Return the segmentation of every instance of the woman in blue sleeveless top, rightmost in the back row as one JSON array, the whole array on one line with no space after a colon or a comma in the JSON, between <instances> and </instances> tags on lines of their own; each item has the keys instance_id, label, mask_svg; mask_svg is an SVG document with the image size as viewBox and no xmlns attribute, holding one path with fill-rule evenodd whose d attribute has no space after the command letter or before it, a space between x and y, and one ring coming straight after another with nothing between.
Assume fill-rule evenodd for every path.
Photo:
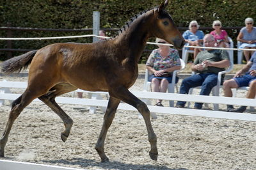
<instances>
[{"instance_id":1,"label":"woman in blue sleeveless top, rightmost in the back row","mask_svg":"<svg viewBox=\"0 0 256 170\"><path fill-rule=\"evenodd\" d=\"M239 49L256 49L256 27L253 27L253 19L246 18L244 20L245 27L243 27L239 35L237 36L237 41L242 44L239 46ZM244 58L246 62L250 60L254 51L244 50Z\"/></svg>"}]
</instances>

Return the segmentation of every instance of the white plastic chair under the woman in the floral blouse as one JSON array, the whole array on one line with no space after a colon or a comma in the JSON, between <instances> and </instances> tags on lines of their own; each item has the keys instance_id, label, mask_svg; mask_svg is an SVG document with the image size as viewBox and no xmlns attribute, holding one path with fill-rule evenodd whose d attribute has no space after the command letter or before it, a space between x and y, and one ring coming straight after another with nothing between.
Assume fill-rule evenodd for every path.
<instances>
[{"instance_id":1,"label":"white plastic chair under the woman in the floral blouse","mask_svg":"<svg viewBox=\"0 0 256 170\"><path fill-rule=\"evenodd\" d=\"M181 66L180 70L183 70L185 68L185 63L184 63L184 61L182 59L180 59L180 66ZM168 88L167 88L168 89L168 93L174 93L175 86L176 86L176 91L178 93L179 89L177 87L177 84L175 84L175 79L176 79L177 73L180 72L180 70L173 71L172 83L169 83L168 84ZM149 81L149 72L146 69L143 91L151 91L151 84L152 84L152 82ZM170 105L170 107L173 107L174 102L173 101L169 101L169 105Z\"/></svg>"}]
</instances>

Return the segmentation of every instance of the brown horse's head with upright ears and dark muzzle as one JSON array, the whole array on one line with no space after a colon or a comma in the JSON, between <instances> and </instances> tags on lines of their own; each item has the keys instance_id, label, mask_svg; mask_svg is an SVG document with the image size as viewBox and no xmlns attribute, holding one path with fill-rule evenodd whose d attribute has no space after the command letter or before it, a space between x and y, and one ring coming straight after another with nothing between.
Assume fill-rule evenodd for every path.
<instances>
[{"instance_id":1,"label":"brown horse's head with upright ears and dark muzzle","mask_svg":"<svg viewBox=\"0 0 256 170\"><path fill-rule=\"evenodd\" d=\"M164 11L168 2L168 0L165 0L158 8L153 10L156 22L154 23L154 29L151 29L152 35L172 43L177 49L182 49L185 40L175 26L172 17Z\"/></svg>"}]
</instances>

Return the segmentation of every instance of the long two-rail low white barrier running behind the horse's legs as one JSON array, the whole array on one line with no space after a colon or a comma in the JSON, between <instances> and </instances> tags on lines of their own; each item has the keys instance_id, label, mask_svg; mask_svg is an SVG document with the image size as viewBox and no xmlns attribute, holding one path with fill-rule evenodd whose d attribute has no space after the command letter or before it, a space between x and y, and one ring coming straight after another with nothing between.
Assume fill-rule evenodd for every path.
<instances>
[{"instance_id":1,"label":"long two-rail low white barrier running behind the horse's legs","mask_svg":"<svg viewBox=\"0 0 256 170\"><path fill-rule=\"evenodd\" d=\"M4 84L12 84L12 88L24 88L26 82L0 82L0 87ZM18 86L18 87L17 87ZM82 91L81 89L79 91ZM84 93L103 93L106 92L91 92L82 91ZM177 93L156 93L148 91L131 91L136 97L142 100L150 99L162 99L162 100L181 100L187 102L202 102L210 104L243 104L247 106L256 107L256 100L249 98L227 98L227 97L212 97L212 96L200 96L200 95L182 95ZM0 100L15 100L20 94L12 93L0 93ZM40 102L40 100L35 99L35 102ZM99 106L107 107L108 100L99 99L87 99L87 98L72 98L72 97L56 97L56 102L60 104L79 104L79 105L89 105L89 106ZM147 102L146 102L147 103ZM134 107L128 104L120 104L118 109L136 111ZM163 114L179 114L187 116L204 116L209 118L225 118L233 120L245 120L245 121L256 121L256 114L246 114L237 112L223 112L223 111L211 111L211 110L198 110L198 109L180 109L175 107L158 107L148 105L150 112L163 113Z\"/></svg>"}]
</instances>

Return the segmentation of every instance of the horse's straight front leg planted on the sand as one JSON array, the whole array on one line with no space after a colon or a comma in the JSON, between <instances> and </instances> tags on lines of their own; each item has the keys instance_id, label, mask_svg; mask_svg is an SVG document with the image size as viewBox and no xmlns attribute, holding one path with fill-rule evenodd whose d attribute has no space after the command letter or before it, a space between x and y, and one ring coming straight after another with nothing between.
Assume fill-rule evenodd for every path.
<instances>
[{"instance_id":1,"label":"horse's straight front leg planted on the sand","mask_svg":"<svg viewBox=\"0 0 256 170\"><path fill-rule=\"evenodd\" d=\"M108 157L104 153L104 142L105 142L105 139L106 139L108 128L110 127L113 119L115 118L116 109L117 109L119 104L120 104L119 99L114 98L114 97L109 98L108 108L107 108L107 111L104 115L104 122L103 122L103 125L102 125L102 129L100 131L99 139L98 139L97 144L95 146L95 149L97 150L97 152L100 155L101 162L108 162L109 161Z\"/></svg>"}]
</instances>

